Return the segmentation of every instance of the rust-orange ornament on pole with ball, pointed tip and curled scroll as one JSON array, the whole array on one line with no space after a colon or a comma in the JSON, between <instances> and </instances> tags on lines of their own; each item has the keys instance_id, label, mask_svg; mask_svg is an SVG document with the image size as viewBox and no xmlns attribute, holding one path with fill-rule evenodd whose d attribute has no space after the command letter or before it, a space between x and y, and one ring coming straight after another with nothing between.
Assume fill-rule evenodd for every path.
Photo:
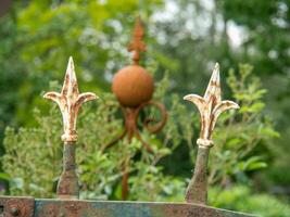
<instances>
[{"instance_id":1,"label":"rust-orange ornament on pole with ball, pointed tip and curled scroll","mask_svg":"<svg viewBox=\"0 0 290 217\"><path fill-rule=\"evenodd\" d=\"M140 17L137 17L134 30L133 42L128 46L128 51L133 52L133 65L126 66L118 71L112 84L112 90L115 93L119 106L125 118L125 126L123 132L118 138L110 142L106 148L116 144L119 140L127 136L128 143L133 138L138 139L143 148L153 153L152 148L142 139L138 129L138 117L140 112L147 106L155 106L160 114L161 120L157 122L152 118L147 118L143 122L143 127L151 133L160 131L167 119L167 112L162 103L155 102L152 99L154 92L154 80L152 76L139 65L140 52L146 51L146 43L142 41L144 30ZM152 125L152 123L154 123ZM128 195L128 176L129 176L128 156L123 166L122 178L122 199L126 200Z\"/></svg>"}]
</instances>

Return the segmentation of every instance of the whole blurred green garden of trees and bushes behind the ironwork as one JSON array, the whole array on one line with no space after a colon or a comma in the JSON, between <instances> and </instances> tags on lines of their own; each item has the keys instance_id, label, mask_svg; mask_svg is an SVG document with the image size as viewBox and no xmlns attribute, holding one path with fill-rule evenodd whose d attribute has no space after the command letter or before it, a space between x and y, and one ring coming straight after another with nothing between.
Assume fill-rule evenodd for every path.
<instances>
[{"instance_id":1,"label":"whole blurred green garden of trees and bushes behind the ironwork","mask_svg":"<svg viewBox=\"0 0 290 217\"><path fill-rule=\"evenodd\" d=\"M198 110L182 97L202 95L218 62L223 98L241 110L216 127L210 205L290 216L289 8L289 0L1 0L2 193L54 196L61 116L42 95L60 89L72 55L80 90L100 97L78 123L81 197L119 200L122 162L130 156L129 200L182 201L199 133ZM104 149L122 129L111 82L130 64L126 47L138 15L148 47L142 65L169 115L159 135L142 130L154 154L138 140Z\"/></svg>"}]
</instances>

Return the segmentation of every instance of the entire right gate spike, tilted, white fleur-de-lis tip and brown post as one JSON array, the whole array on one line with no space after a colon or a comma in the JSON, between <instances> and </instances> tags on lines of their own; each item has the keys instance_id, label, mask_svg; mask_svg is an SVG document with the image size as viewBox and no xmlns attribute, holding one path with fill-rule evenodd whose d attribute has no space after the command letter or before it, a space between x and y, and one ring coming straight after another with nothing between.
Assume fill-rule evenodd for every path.
<instances>
[{"instance_id":1,"label":"entire right gate spike, tilted, white fleur-de-lis tip and brown post","mask_svg":"<svg viewBox=\"0 0 290 217\"><path fill-rule=\"evenodd\" d=\"M227 110L239 108L239 105L232 101L223 101L220 94L219 66L216 63L204 97L188 94L184 98L198 106L201 116L200 138L197 141L199 145L198 157L193 178L186 193L186 200L189 203L206 203L207 161L210 148L214 145L212 135L217 117Z\"/></svg>"}]
</instances>

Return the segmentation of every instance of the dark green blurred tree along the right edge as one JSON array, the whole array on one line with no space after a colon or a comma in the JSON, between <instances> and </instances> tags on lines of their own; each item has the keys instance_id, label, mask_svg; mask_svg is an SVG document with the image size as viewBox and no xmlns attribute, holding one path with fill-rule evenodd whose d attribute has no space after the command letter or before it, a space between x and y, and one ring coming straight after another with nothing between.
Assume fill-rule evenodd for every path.
<instances>
[{"instance_id":1,"label":"dark green blurred tree along the right edge","mask_svg":"<svg viewBox=\"0 0 290 217\"><path fill-rule=\"evenodd\" d=\"M281 139L277 142L275 166L268 170L270 178L286 184L290 181L290 1L218 1L224 18L235 22L243 30L243 39L237 60L255 65L256 74L262 77L267 93L267 113L275 118ZM283 178L281 178L283 177ZM273 184L273 183L272 183Z\"/></svg>"}]
</instances>

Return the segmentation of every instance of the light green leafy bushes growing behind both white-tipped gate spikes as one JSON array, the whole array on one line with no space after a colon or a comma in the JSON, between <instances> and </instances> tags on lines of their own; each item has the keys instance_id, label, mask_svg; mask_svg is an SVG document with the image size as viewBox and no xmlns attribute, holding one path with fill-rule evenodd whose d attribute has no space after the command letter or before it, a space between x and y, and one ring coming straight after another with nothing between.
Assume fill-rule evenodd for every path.
<instances>
[{"instance_id":1,"label":"light green leafy bushes growing behind both white-tipped gate spikes","mask_svg":"<svg viewBox=\"0 0 290 217\"><path fill-rule=\"evenodd\" d=\"M239 76L230 73L228 78L241 110L236 116L235 113L224 114L218 122L214 135L216 145L211 152L210 183L225 187L243 181L248 171L264 168L264 150L255 153L255 148L261 146L259 144L262 142L269 143L272 137L278 136L262 113L264 104L261 99L265 90L260 88L259 79L251 78L251 69L248 65L241 65ZM130 157L129 200L182 201L185 178L165 175L159 163L165 156L169 157L177 146L186 144L190 148L186 158L194 163L196 144L192 140L197 138L193 132L199 128L199 115L188 112L180 97L166 95L169 88L167 76L156 87L154 98L166 101L168 122L159 137L146 130L141 132L154 154L143 150L138 140L131 143L124 140L105 149L105 144L117 136L123 126L117 102L112 94L103 94L99 102L83 108L76 150L81 197L119 199L122 166ZM154 110L147 112L151 117L157 117ZM3 168L11 177L11 194L51 197L54 196L61 171L61 116L53 105L47 115L36 111L35 118L38 127L17 131L7 129ZM180 164L184 162L177 162L175 166L178 168Z\"/></svg>"}]
</instances>

